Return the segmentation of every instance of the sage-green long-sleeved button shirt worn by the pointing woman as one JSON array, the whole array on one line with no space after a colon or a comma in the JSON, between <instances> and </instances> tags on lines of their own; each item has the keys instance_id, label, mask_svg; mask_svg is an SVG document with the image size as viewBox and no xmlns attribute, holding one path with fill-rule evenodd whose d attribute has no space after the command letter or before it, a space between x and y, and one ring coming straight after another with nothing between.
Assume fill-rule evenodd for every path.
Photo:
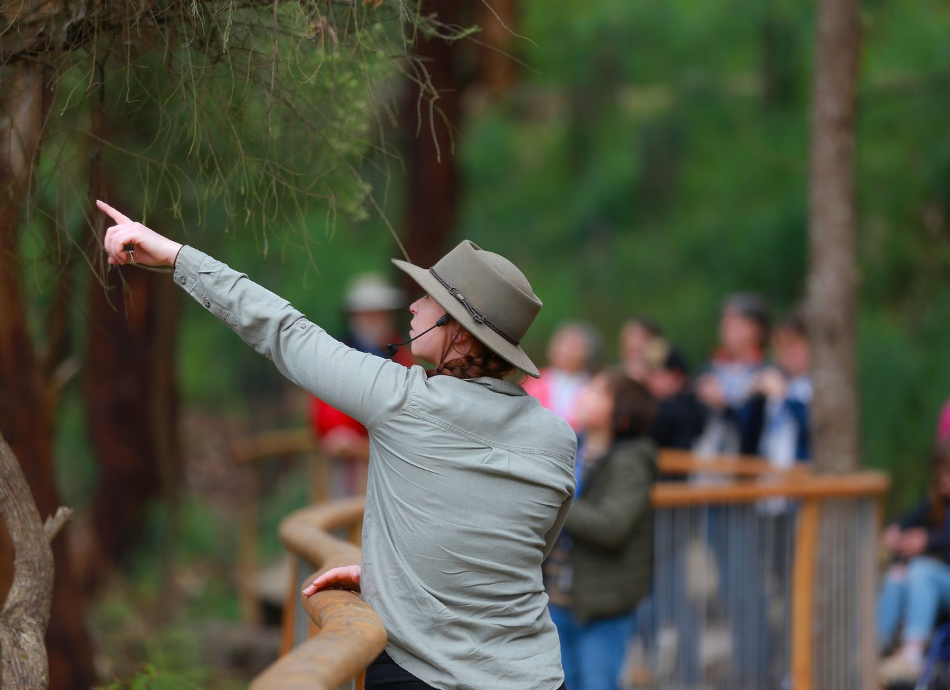
<instances>
[{"instance_id":1,"label":"sage-green long-sleeved button shirt worn by the pointing woman","mask_svg":"<svg viewBox=\"0 0 950 690\"><path fill-rule=\"evenodd\" d=\"M334 340L193 248L175 281L297 385L370 431L362 590L392 659L442 690L563 681L541 564L574 494L564 420L494 379L428 379Z\"/></svg>"}]
</instances>

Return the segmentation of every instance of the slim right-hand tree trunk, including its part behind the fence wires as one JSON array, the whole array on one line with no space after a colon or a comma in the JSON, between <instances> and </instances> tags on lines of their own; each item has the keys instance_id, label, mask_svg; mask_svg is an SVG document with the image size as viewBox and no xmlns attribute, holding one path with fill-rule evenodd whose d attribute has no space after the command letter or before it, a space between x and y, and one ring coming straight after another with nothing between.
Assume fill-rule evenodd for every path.
<instances>
[{"instance_id":1,"label":"slim right-hand tree trunk, including its part behind the fence wires","mask_svg":"<svg viewBox=\"0 0 950 690\"><path fill-rule=\"evenodd\" d=\"M841 473L858 468L857 382L855 375L854 117L861 35L857 0L821 0L817 18L817 55L812 95L811 177L808 273L808 333L812 346L812 450L816 471ZM818 534L811 643L815 690L838 690L845 664L864 671L862 687L874 687L874 657L850 650L847 660L826 650L849 638L855 627L872 625L859 614L841 615L837 603L851 593L853 582L834 577L848 572L851 551L836 535L836 510L823 507ZM853 508L851 510L854 510ZM873 610L873 601L864 602ZM830 646L829 646L830 645ZM810 685L809 685L810 686Z\"/></svg>"}]
</instances>

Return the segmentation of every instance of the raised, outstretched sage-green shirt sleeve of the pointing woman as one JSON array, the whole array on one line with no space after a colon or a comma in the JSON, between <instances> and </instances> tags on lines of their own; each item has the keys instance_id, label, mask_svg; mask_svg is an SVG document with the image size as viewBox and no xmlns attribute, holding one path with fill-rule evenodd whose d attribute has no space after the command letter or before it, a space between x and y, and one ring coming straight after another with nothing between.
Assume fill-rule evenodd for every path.
<instances>
[{"instance_id":1,"label":"raised, outstretched sage-green shirt sleeve of the pointing woman","mask_svg":"<svg viewBox=\"0 0 950 690\"><path fill-rule=\"evenodd\" d=\"M408 369L340 343L246 274L184 247L174 278L290 381L365 426L409 403L420 367Z\"/></svg>"}]
</instances>

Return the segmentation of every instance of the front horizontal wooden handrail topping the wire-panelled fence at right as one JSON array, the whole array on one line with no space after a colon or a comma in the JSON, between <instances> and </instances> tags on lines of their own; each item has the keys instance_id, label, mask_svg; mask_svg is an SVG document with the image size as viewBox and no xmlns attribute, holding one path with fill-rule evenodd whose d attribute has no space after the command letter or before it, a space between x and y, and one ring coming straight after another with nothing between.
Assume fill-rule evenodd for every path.
<instances>
[{"instance_id":1,"label":"front horizontal wooden handrail topping the wire-panelled fence at right","mask_svg":"<svg viewBox=\"0 0 950 690\"><path fill-rule=\"evenodd\" d=\"M882 472L861 472L847 475L792 475L775 477L761 483L690 484L660 482L652 494L656 508L700 506L718 503L751 503L762 498L854 498L881 496L890 486Z\"/></svg>"}]
</instances>

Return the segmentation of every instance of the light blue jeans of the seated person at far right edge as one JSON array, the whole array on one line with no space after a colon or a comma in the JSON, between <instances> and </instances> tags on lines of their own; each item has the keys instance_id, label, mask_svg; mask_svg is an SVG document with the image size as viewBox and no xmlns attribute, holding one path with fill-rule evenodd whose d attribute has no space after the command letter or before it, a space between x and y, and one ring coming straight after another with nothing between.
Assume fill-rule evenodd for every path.
<instances>
[{"instance_id":1,"label":"light blue jeans of the seated person at far right edge","mask_svg":"<svg viewBox=\"0 0 950 690\"><path fill-rule=\"evenodd\" d=\"M890 643L903 619L902 641L926 642L937 614L950 609L950 564L919 556L891 567L878 595L878 644Z\"/></svg>"}]
</instances>

